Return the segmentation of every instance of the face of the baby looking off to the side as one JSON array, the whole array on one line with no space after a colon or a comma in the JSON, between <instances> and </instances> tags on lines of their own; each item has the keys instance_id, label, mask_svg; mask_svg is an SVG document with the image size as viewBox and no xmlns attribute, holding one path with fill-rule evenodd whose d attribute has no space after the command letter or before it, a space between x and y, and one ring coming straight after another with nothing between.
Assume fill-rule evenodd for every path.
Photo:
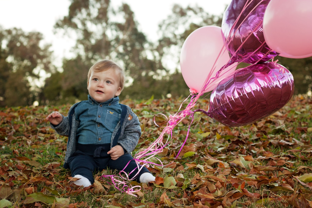
<instances>
[{"instance_id":1,"label":"face of the baby looking off to the side","mask_svg":"<svg viewBox=\"0 0 312 208\"><path fill-rule=\"evenodd\" d=\"M112 69L100 72L91 71L88 90L90 96L99 103L119 96L121 92L119 76Z\"/></svg>"}]
</instances>

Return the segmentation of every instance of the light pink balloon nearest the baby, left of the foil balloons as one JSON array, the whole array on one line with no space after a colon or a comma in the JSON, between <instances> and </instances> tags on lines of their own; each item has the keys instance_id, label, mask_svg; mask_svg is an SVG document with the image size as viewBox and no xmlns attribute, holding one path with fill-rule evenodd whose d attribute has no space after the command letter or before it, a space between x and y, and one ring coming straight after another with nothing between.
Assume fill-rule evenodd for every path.
<instances>
[{"instance_id":1,"label":"light pink balloon nearest the baby, left of the foil balloons","mask_svg":"<svg viewBox=\"0 0 312 208\"><path fill-rule=\"evenodd\" d=\"M180 66L183 79L192 91L212 91L223 78L234 73L237 63L223 69L217 79L212 79L229 60L221 27L200 27L186 38L181 49ZM206 83L207 86L203 88Z\"/></svg>"}]
</instances>

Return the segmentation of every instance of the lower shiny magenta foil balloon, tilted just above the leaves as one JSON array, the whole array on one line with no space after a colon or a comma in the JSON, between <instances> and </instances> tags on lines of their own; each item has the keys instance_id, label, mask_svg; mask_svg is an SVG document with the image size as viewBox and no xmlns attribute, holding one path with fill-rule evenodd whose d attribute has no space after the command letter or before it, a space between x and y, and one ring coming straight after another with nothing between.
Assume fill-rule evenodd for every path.
<instances>
[{"instance_id":1,"label":"lower shiny magenta foil balloon, tilted just above the leaves","mask_svg":"<svg viewBox=\"0 0 312 208\"><path fill-rule=\"evenodd\" d=\"M282 108L294 94L294 78L279 64L250 65L222 80L212 91L208 112L226 126L243 126Z\"/></svg>"}]
</instances>

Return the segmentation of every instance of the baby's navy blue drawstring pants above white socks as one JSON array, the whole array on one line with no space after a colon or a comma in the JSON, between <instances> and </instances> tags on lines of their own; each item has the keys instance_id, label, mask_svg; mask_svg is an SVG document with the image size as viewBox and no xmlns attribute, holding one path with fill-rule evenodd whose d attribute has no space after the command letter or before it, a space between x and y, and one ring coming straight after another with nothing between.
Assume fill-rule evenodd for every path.
<instances>
[{"instance_id":1,"label":"baby's navy blue drawstring pants above white socks","mask_svg":"<svg viewBox=\"0 0 312 208\"><path fill-rule=\"evenodd\" d=\"M81 175L89 179L91 184L93 184L93 172L102 171L106 168L116 169L118 171L124 170L127 174L135 169L129 175L129 179L138 173L138 166L129 153L120 156L117 160L112 160L110 155L107 154L109 150L110 144L105 144L100 147L98 145L78 144L77 151L68 159L71 176ZM126 165L127 167L124 168ZM143 167L135 178L135 181L140 182L140 176L144 172L149 172L149 170Z\"/></svg>"}]
</instances>

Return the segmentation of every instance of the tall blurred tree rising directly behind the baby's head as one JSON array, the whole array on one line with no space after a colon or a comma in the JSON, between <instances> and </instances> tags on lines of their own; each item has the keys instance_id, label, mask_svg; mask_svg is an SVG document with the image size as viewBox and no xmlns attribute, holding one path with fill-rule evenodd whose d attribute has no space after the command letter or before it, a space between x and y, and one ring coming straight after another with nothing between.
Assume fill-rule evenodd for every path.
<instances>
[{"instance_id":1,"label":"tall blurred tree rising directly behind the baby's head","mask_svg":"<svg viewBox=\"0 0 312 208\"><path fill-rule=\"evenodd\" d=\"M146 49L150 43L145 35L137 28L134 13L129 5L122 4L115 10L110 0L72 0L68 16L57 21L56 31L76 38L74 51L76 57L64 60L64 77L71 76L75 82L68 84L64 78L64 90L71 90L76 97L80 97L80 87L85 86L86 80L79 76L86 75L90 66L100 59L112 59L124 67L131 85L134 80L136 86L148 87L149 71L156 71L161 65L147 58ZM73 62L80 63L80 65ZM85 92L83 92L85 94Z\"/></svg>"}]
</instances>

